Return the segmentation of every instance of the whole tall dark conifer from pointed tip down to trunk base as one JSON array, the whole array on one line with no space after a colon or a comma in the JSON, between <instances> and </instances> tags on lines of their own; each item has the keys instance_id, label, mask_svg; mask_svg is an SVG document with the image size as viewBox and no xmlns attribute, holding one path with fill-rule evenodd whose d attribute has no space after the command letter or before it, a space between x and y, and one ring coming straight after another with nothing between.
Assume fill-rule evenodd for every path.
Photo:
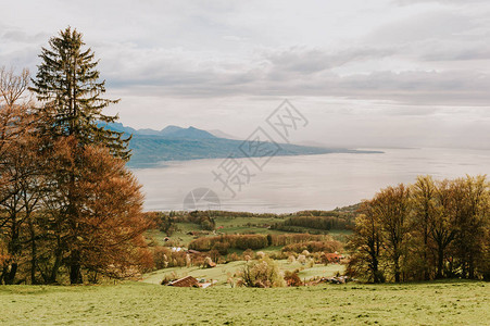
<instances>
[{"instance_id":1,"label":"whole tall dark conifer from pointed tip down to trunk base","mask_svg":"<svg viewBox=\"0 0 490 326\"><path fill-rule=\"evenodd\" d=\"M118 100L101 97L105 92L105 80L99 80L98 61L91 49L84 49L81 34L68 27L58 37L52 37L49 46L49 49L42 48L39 55L42 62L30 90L43 104L39 116L45 121L41 134L50 139L47 149L54 150L56 143L68 139L64 143L71 146L67 153L72 155L65 160L66 166L52 170L56 179L52 191L63 200L52 222L61 244L51 281L55 281L58 266L63 261L70 268L71 283L79 284L83 283L81 261L85 255L83 242L86 235L81 221L86 196L80 196L77 188L90 177L84 174L87 164L84 153L92 146L105 147L112 155L128 160L129 139L123 139L123 133L104 128L117 116L104 115L102 110Z\"/></svg>"}]
</instances>

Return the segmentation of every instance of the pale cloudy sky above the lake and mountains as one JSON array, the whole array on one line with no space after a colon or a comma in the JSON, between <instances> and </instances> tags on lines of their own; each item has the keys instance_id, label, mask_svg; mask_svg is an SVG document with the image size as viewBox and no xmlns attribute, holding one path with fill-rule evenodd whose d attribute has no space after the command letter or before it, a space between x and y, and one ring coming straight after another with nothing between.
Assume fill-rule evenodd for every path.
<instances>
[{"instance_id":1,"label":"pale cloudy sky above the lake and mountains","mask_svg":"<svg viewBox=\"0 0 490 326\"><path fill-rule=\"evenodd\" d=\"M75 27L135 128L246 138L288 99L297 143L490 149L488 0L0 1L0 66Z\"/></svg>"}]
</instances>

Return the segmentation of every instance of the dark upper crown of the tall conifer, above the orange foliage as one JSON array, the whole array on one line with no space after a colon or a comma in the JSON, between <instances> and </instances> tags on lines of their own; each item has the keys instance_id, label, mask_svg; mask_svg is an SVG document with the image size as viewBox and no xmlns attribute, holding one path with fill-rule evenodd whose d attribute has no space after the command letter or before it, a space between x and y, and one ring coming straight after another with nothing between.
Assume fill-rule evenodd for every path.
<instances>
[{"instance_id":1,"label":"dark upper crown of the tall conifer, above the orange foliage","mask_svg":"<svg viewBox=\"0 0 490 326\"><path fill-rule=\"evenodd\" d=\"M104 128L118 117L104 115L102 109L118 100L101 97L105 80L99 80L99 61L90 48L84 49L83 35L67 27L52 37L49 46L42 48L42 63L30 88L43 103L43 115L51 121L47 131L52 137L73 136L81 147L108 147L113 155L128 160L129 139L123 139L123 133Z\"/></svg>"}]
</instances>

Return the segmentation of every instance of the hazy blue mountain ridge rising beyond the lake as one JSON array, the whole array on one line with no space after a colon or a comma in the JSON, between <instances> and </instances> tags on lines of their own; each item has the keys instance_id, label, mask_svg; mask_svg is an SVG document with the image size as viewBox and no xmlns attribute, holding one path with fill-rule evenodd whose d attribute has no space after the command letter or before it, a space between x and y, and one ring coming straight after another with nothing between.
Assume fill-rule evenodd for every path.
<instances>
[{"instance_id":1,"label":"hazy blue mountain ridge rising beyond the lake","mask_svg":"<svg viewBox=\"0 0 490 326\"><path fill-rule=\"evenodd\" d=\"M133 135L129 148L133 151L129 167L153 167L164 161L187 161L198 159L224 159L233 155L244 158L240 149L253 148L250 141L216 137L210 131L194 127L181 128L167 126L162 130L134 129L120 123L100 124L108 129ZM312 155L326 153L366 153L349 149L329 149L311 146L271 142L261 143L261 153L272 152L274 155ZM253 156L253 154L251 154Z\"/></svg>"}]
</instances>

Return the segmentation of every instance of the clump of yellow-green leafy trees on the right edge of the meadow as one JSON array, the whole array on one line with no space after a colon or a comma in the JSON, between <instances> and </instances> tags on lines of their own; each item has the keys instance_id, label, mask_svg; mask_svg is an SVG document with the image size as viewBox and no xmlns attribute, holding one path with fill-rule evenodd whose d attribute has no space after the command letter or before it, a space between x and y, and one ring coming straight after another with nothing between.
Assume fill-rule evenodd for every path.
<instances>
[{"instance_id":1,"label":"clump of yellow-green leafy trees on the right edge of the meadow","mask_svg":"<svg viewBox=\"0 0 490 326\"><path fill-rule=\"evenodd\" d=\"M373 280L373 266L381 264L391 267L395 281L490 277L490 185L485 175L441 181L418 177L412 186L382 189L359 213L349 242L351 274Z\"/></svg>"}]
</instances>

